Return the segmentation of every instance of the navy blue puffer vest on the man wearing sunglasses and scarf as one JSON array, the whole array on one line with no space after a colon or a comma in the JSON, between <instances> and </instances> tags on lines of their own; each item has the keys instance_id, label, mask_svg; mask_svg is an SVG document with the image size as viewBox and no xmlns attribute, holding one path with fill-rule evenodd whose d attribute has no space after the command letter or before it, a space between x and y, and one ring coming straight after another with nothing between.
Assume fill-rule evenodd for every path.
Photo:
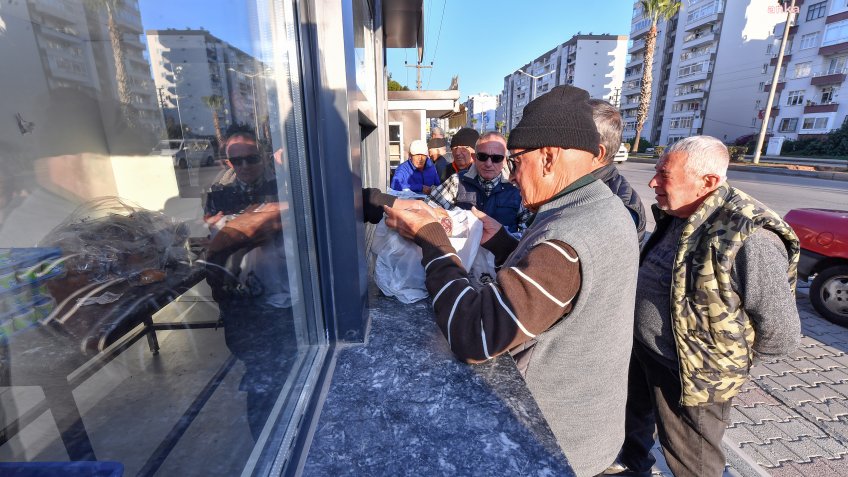
<instances>
[{"instance_id":1,"label":"navy blue puffer vest on the man wearing sunglasses and scarf","mask_svg":"<svg viewBox=\"0 0 848 477\"><path fill-rule=\"evenodd\" d=\"M501 179L489 197L486 197L475 176L476 174L469 174L469 170L459 172L456 206L465 210L471 210L472 206L477 207L506 227L509 232L518 232L518 212L521 209L521 192L518 188Z\"/></svg>"}]
</instances>

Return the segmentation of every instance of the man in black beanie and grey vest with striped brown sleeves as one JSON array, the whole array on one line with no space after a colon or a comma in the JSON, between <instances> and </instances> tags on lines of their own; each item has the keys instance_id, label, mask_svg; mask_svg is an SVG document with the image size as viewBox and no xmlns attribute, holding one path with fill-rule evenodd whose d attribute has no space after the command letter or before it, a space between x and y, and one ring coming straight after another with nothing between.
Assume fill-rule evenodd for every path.
<instances>
[{"instance_id":1,"label":"man in black beanie and grey vest with striped brown sleeves","mask_svg":"<svg viewBox=\"0 0 848 477\"><path fill-rule=\"evenodd\" d=\"M511 178L536 217L521 240L483 220L500 266L475 290L433 210L384 207L423 252L436 322L456 356L510 353L578 476L612 463L624 440L638 241L633 220L591 175L600 136L586 91L533 100L509 136Z\"/></svg>"}]
</instances>

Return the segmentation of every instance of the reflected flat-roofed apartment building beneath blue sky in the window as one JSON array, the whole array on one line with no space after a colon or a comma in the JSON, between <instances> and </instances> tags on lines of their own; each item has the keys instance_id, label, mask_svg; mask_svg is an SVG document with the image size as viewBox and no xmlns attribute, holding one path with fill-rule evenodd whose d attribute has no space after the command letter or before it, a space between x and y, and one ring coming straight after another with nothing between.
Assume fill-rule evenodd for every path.
<instances>
[{"instance_id":1,"label":"reflected flat-roofed apartment building beneath blue sky in the window","mask_svg":"<svg viewBox=\"0 0 848 477\"><path fill-rule=\"evenodd\" d=\"M206 30L148 30L147 44L169 124L182 123L193 135L215 136L217 115L222 130L244 124L268 136L270 72L260 60ZM211 96L222 98L219 108L207 104L204 98Z\"/></svg>"}]
</instances>

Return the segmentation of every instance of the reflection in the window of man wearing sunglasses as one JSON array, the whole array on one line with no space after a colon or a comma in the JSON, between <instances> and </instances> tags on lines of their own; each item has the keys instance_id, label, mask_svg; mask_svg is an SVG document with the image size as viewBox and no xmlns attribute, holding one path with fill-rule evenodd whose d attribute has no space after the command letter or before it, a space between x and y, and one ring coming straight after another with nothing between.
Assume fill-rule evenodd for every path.
<instances>
[{"instance_id":1,"label":"reflection in the window of man wearing sunglasses","mask_svg":"<svg viewBox=\"0 0 848 477\"><path fill-rule=\"evenodd\" d=\"M248 423L256 438L293 358L291 294L277 183L250 133L225 142L232 168L206 194L212 232L207 282L218 303L227 347L244 362Z\"/></svg>"}]
</instances>

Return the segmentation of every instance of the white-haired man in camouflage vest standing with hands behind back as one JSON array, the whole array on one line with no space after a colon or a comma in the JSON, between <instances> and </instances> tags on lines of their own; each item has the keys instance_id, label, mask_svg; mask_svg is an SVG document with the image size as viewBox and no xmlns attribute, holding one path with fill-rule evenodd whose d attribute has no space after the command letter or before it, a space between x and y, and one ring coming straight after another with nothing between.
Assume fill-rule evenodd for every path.
<instances>
[{"instance_id":1,"label":"white-haired man in camouflage vest standing with hands behind back","mask_svg":"<svg viewBox=\"0 0 848 477\"><path fill-rule=\"evenodd\" d=\"M728 162L727 147L709 136L683 139L657 162L649 184L657 227L636 289L627 437L608 474L650 475L655 419L675 476L722 475L731 401L754 359L797 346L798 239L779 215L727 183Z\"/></svg>"}]
</instances>

